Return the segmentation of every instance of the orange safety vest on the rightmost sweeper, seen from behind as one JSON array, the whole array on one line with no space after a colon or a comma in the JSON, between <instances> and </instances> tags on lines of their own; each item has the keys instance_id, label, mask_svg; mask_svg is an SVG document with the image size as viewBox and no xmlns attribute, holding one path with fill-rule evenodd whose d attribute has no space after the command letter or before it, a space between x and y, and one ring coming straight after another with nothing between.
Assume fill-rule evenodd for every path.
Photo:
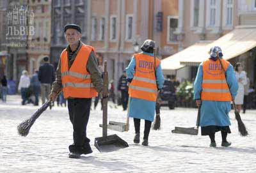
<instances>
[{"instance_id":1,"label":"orange safety vest on the rightmost sweeper, seen from behind","mask_svg":"<svg viewBox=\"0 0 256 173\"><path fill-rule=\"evenodd\" d=\"M229 62L221 59L223 68L227 71ZM225 73L220 61L208 59L203 63L202 100L231 101L232 97L226 82Z\"/></svg>"}]
</instances>

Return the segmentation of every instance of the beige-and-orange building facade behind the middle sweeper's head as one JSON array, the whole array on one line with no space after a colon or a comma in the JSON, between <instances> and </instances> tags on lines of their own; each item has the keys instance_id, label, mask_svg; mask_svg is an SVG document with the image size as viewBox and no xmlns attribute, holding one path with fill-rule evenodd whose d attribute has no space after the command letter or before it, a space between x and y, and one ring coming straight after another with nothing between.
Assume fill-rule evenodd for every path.
<instances>
[{"instance_id":1,"label":"beige-and-orange building facade behind the middle sweeper's head","mask_svg":"<svg viewBox=\"0 0 256 173\"><path fill-rule=\"evenodd\" d=\"M88 0L87 43L108 61L115 89L143 41L156 41L160 59L179 50L178 16L176 0Z\"/></svg>"}]
</instances>

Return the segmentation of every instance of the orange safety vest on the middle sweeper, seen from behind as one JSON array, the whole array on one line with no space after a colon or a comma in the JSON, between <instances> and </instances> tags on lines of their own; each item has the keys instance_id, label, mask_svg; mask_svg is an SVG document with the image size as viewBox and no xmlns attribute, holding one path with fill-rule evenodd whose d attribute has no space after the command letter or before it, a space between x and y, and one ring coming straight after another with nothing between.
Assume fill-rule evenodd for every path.
<instances>
[{"instance_id":1,"label":"orange safety vest on the middle sweeper, seen from behind","mask_svg":"<svg viewBox=\"0 0 256 173\"><path fill-rule=\"evenodd\" d=\"M129 95L133 98L156 102L157 84L155 76L154 57L147 54L134 54L136 67L134 77L129 86ZM156 66L160 60L156 58Z\"/></svg>"}]
</instances>

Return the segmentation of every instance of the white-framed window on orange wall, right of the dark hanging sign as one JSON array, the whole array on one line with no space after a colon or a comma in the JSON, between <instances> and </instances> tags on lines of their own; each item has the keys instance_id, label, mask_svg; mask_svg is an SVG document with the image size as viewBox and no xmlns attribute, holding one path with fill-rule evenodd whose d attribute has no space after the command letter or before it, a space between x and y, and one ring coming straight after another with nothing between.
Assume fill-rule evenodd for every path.
<instances>
[{"instance_id":1,"label":"white-framed window on orange wall, right of the dark hanging sign","mask_svg":"<svg viewBox=\"0 0 256 173\"><path fill-rule=\"evenodd\" d=\"M178 17L168 16L167 19L167 41L178 41L177 35L174 34L174 31L178 27Z\"/></svg>"}]
</instances>

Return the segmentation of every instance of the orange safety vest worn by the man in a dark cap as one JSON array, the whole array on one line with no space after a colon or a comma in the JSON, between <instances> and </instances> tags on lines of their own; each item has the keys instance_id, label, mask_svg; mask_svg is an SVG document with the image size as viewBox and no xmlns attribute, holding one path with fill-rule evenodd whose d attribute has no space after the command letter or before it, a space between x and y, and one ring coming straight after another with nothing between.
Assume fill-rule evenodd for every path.
<instances>
[{"instance_id":1,"label":"orange safety vest worn by the man in a dark cap","mask_svg":"<svg viewBox=\"0 0 256 173\"><path fill-rule=\"evenodd\" d=\"M94 47L83 44L70 69L68 69L67 50L61 52L61 81L65 98L92 98L98 95L90 73L86 70L92 51L95 52Z\"/></svg>"}]
</instances>

